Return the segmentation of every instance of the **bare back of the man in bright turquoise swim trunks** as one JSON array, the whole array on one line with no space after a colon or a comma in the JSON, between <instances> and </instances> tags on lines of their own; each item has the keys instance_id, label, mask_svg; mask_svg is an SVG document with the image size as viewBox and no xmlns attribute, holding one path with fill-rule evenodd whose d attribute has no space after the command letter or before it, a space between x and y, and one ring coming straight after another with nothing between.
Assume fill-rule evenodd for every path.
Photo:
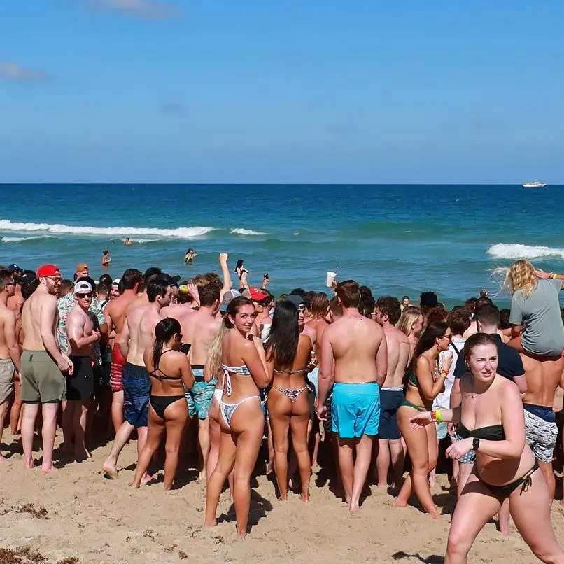
<instances>
[{"instance_id":1,"label":"bare back of the man in bright turquoise swim trunks","mask_svg":"<svg viewBox=\"0 0 564 564\"><path fill-rule=\"evenodd\" d=\"M335 382L382 383L386 378L386 339L382 328L374 321L344 315L325 329L323 340L330 346L335 361ZM324 347L323 362L326 350ZM379 351L380 358L376 362Z\"/></svg>"}]
</instances>

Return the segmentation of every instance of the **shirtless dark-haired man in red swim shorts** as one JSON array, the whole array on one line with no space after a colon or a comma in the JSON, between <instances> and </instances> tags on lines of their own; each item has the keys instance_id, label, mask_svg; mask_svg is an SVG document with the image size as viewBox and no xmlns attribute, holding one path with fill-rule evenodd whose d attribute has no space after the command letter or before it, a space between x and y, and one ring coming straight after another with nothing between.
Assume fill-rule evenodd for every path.
<instances>
[{"instance_id":1,"label":"shirtless dark-haired man in red swim shorts","mask_svg":"<svg viewBox=\"0 0 564 564\"><path fill-rule=\"evenodd\" d=\"M137 297L137 288L143 281L141 272L128 268L123 273L122 282L125 290L122 295L111 299L104 309L104 319L108 325L108 335L113 338L112 357L110 364L110 386L112 390L112 423L115 432L118 432L123 423L123 386L122 372L125 358L122 355L118 341L125 322L125 310ZM113 330L113 333L112 333Z\"/></svg>"}]
</instances>

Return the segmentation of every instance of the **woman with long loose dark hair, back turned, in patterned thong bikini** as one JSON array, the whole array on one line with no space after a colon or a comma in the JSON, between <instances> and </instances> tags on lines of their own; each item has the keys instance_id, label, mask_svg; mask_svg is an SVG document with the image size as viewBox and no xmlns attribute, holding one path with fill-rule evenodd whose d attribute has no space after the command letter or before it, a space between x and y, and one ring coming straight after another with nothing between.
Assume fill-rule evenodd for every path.
<instances>
[{"instance_id":1,"label":"woman with long loose dark hair, back turned, in patterned thong bikini","mask_svg":"<svg viewBox=\"0 0 564 564\"><path fill-rule=\"evenodd\" d=\"M306 374L311 362L311 339L299 332L298 312L292 302L276 306L270 334L265 343L272 381L267 407L274 439L274 472L280 499L288 499L288 429L297 455L302 481L302 501L309 502L311 458L307 445L310 407Z\"/></svg>"}]
</instances>

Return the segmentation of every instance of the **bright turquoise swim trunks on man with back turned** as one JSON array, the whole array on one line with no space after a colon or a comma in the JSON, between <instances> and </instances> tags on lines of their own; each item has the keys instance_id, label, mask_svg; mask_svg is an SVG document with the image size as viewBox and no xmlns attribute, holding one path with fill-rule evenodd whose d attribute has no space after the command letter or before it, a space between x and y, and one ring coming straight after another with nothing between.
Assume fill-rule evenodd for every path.
<instances>
[{"instance_id":1,"label":"bright turquoise swim trunks on man with back turned","mask_svg":"<svg viewBox=\"0 0 564 564\"><path fill-rule=\"evenodd\" d=\"M333 386L332 432L341 439L378 435L380 389L376 382L342 383Z\"/></svg>"}]
</instances>

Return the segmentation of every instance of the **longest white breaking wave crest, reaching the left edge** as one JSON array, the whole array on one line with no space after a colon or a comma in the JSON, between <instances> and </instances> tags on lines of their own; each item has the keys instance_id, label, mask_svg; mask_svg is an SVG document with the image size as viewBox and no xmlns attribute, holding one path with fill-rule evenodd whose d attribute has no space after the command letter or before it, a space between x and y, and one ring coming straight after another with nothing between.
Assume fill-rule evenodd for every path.
<instances>
[{"instance_id":1,"label":"longest white breaking wave crest, reaching the left edge","mask_svg":"<svg viewBox=\"0 0 564 564\"><path fill-rule=\"evenodd\" d=\"M156 237L178 237L190 239L202 237L214 231L215 227L178 227L176 229L159 229L157 227L90 227L88 225L64 225L62 223L21 223L0 219L0 231L31 231L71 235L153 235Z\"/></svg>"}]
</instances>

